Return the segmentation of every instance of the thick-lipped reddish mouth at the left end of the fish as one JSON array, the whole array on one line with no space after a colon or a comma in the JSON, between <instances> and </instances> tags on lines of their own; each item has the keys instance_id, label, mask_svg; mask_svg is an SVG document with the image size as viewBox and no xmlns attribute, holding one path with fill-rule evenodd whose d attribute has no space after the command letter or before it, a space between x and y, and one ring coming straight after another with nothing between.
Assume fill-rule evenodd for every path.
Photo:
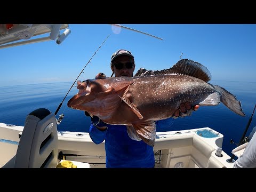
<instances>
[{"instance_id":1,"label":"thick-lipped reddish mouth at the left end of the fish","mask_svg":"<svg viewBox=\"0 0 256 192\"><path fill-rule=\"evenodd\" d=\"M78 82L77 83L77 89L79 89L78 93L74 95L73 98L69 99L67 105L70 108L75 108L75 106L80 106L83 103L91 101L90 98L88 98L88 95L91 93L91 82L90 81L84 81L84 82Z\"/></svg>"}]
</instances>

